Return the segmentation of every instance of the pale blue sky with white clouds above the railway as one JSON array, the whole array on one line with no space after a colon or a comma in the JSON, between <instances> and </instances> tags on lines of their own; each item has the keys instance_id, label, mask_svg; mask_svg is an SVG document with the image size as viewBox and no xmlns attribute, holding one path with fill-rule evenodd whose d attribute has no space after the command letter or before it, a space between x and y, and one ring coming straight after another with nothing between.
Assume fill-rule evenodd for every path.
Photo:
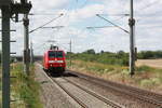
<instances>
[{"instance_id":1,"label":"pale blue sky with white clouds above the railway","mask_svg":"<svg viewBox=\"0 0 162 108\"><path fill-rule=\"evenodd\" d=\"M94 49L96 52L125 51L130 50L130 36L123 30L112 27L108 22L99 18L96 14L113 22L122 28L130 30L129 16L130 0L31 0L32 15L29 15L29 29L32 30L49 21L58 17L45 27L64 26L63 28L38 29L30 33L36 55L42 55L49 48L50 40L66 52L69 51L69 42L72 43L72 52L83 52ZM162 50L162 0L134 0L135 45L138 51ZM19 16L22 21L23 16ZM1 23L0 23L1 24ZM93 28L87 27L103 27ZM11 52L23 54L24 27L23 23L13 23L11 28Z\"/></svg>"}]
</instances>

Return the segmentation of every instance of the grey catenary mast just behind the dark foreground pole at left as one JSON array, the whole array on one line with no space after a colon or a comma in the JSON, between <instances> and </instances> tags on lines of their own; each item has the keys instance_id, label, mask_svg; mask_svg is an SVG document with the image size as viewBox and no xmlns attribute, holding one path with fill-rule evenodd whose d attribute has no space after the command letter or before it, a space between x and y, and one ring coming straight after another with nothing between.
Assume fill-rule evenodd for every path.
<instances>
[{"instance_id":1,"label":"grey catenary mast just behind the dark foreground pole at left","mask_svg":"<svg viewBox=\"0 0 162 108\"><path fill-rule=\"evenodd\" d=\"M24 72L29 75L29 19L28 14L24 15Z\"/></svg>"}]
</instances>

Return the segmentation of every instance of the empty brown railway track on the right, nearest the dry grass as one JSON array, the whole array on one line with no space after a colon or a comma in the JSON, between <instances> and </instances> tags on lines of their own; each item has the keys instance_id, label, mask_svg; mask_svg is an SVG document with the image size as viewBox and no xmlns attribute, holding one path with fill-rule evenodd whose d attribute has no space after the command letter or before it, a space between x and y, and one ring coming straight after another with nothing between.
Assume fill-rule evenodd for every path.
<instances>
[{"instance_id":1,"label":"empty brown railway track on the right, nearest the dry grass","mask_svg":"<svg viewBox=\"0 0 162 108\"><path fill-rule=\"evenodd\" d=\"M79 73L79 72L76 72L76 71L69 71L69 73L76 75L81 79L87 80L87 81L93 82L93 83L97 83L99 85L106 86L108 89L120 92L122 94L133 96L133 97L135 97L137 99L140 99L143 102L147 102L149 104L162 107L162 100L157 100L154 98L149 98L145 94L141 95L140 91L133 92L133 91L130 90L130 86L127 86L127 85L122 85L122 84L119 84L119 83L116 83L116 82L106 81L106 80L103 80L103 79L90 77L90 76ZM131 89L133 89L133 86L131 86Z\"/></svg>"}]
</instances>

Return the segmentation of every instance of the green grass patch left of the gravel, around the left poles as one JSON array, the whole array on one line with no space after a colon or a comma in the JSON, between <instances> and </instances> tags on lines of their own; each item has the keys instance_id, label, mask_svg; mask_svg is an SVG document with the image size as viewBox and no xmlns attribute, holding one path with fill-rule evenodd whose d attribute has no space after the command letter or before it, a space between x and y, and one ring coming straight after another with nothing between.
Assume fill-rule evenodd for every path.
<instances>
[{"instance_id":1,"label":"green grass patch left of the gravel, around the left poles","mask_svg":"<svg viewBox=\"0 0 162 108\"><path fill-rule=\"evenodd\" d=\"M43 108L39 98L40 85L35 81L35 66L31 66L30 76L23 73L22 64L11 67L11 108ZM1 78L1 77L0 77ZM1 90L1 86L0 86Z\"/></svg>"}]
</instances>

